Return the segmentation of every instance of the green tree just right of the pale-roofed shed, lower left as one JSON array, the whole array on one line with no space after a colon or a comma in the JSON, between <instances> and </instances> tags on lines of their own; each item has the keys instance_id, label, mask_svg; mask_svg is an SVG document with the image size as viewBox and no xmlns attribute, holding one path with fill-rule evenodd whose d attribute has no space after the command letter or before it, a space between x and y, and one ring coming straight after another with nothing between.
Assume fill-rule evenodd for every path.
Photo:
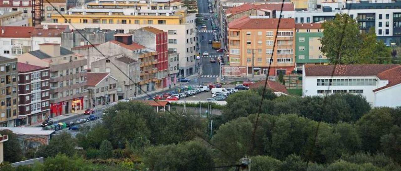
<instances>
[{"instance_id":1,"label":"green tree just right of the pale-roofed shed, lower left","mask_svg":"<svg viewBox=\"0 0 401 171\"><path fill-rule=\"evenodd\" d=\"M75 139L71 134L63 132L60 135L53 135L49 141L49 145L41 145L36 151L36 157L54 157L58 153L72 157L75 154Z\"/></svg>"}]
</instances>

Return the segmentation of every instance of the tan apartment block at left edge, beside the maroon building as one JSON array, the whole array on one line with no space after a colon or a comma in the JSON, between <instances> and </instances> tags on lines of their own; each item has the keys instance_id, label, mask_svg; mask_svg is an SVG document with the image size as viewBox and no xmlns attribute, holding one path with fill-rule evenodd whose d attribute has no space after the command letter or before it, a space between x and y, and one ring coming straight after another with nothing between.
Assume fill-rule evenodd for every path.
<instances>
[{"instance_id":1,"label":"tan apartment block at left edge, beside the maroon building","mask_svg":"<svg viewBox=\"0 0 401 171\"><path fill-rule=\"evenodd\" d=\"M17 60L0 56L0 126L17 126Z\"/></svg>"}]
</instances>

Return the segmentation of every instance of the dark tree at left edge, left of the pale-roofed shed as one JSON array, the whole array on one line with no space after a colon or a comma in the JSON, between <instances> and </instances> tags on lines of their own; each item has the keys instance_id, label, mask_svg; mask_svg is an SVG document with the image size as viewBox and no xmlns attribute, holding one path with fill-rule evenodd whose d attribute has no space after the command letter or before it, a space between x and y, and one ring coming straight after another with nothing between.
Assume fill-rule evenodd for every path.
<instances>
[{"instance_id":1,"label":"dark tree at left edge, left of the pale-roofed shed","mask_svg":"<svg viewBox=\"0 0 401 171\"><path fill-rule=\"evenodd\" d=\"M8 141L4 142L4 161L14 163L22 160L22 149L17 135L8 129L0 131L0 135L8 135Z\"/></svg>"}]
</instances>

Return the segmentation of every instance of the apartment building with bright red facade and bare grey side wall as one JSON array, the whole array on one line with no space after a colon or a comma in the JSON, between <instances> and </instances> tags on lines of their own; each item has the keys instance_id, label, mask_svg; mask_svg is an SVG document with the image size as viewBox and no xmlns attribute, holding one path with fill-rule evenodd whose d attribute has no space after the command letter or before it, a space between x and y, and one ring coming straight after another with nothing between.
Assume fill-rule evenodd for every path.
<instances>
[{"instance_id":1,"label":"apartment building with bright red facade and bare grey side wall","mask_svg":"<svg viewBox=\"0 0 401 171\"><path fill-rule=\"evenodd\" d=\"M130 33L133 34L134 42L146 46L146 48L157 53L157 57L154 59L157 62L154 67L158 70L155 73L155 78L158 79L156 81L156 89L170 85L171 80L168 77L167 32L148 26Z\"/></svg>"}]
</instances>

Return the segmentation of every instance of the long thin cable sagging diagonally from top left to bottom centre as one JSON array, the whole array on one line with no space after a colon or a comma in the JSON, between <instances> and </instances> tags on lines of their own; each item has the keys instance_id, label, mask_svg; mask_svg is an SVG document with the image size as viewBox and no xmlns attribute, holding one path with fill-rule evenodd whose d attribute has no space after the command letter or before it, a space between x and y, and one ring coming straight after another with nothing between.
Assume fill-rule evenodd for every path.
<instances>
[{"instance_id":1,"label":"long thin cable sagging diagonally from top left to bottom centre","mask_svg":"<svg viewBox=\"0 0 401 171\"><path fill-rule=\"evenodd\" d=\"M55 6L54 6L51 2L49 2L49 0L46 0L46 2L49 3L49 4L52 6L52 8L53 8L54 10L56 10L57 13L60 14L61 17L63 17L64 20L65 20L66 22L68 22L68 23L71 25L71 27L73 27L73 28L76 30L76 31L79 33L79 35L81 35L81 36L91 45L91 47L95 48L95 50L96 50L97 52L99 52L103 57L105 57L105 59L109 59L109 57L107 57L106 55L104 55L99 49L96 48L96 46L94 46L94 45L92 44L92 42L90 42L79 30L77 30L77 28L75 28L75 26L73 26L73 24L71 24L71 22L69 22L69 21L67 20L67 18L66 18L63 14L61 14L61 12L58 10L58 8L55 8ZM126 76L130 81L132 81L133 83L135 83L134 80L132 80L127 74L125 74L117 65L115 65L115 64L112 62L112 60L110 60L110 63L113 64L113 66L115 66L115 67L117 68L117 70L119 70L120 72L122 72L122 74L123 74L124 76ZM149 95L148 93L146 93L146 91L143 91L143 90L142 90L142 87L140 87L140 86L138 86L138 85L136 85L136 84L135 84L135 86L138 87L138 88L140 89L140 91L144 92L148 97L152 98L151 95ZM155 100L155 99L153 99L153 98L152 98L152 100L155 101L158 105L161 105L157 100ZM172 115L173 117L175 117L178 121L180 121L180 119L178 118L178 116L176 116L176 115L174 115L173 113L171 113L171 111L167 111L167 112L170 113L170 115ZM204 141L206 141L209 145L211 145L211 146L213 146L215 149L218 149L219 151L221 151L224 155L227 155L227 156L230 157L231 159L235 159L233 156L229 155L227 152L223 151L222 149L220 149L219 147L217 147L216 145L214 145L213 143L211 143L209 140L205 139L205 138L204 138L201 134L199 134L198 132L194 131L193 129L190 129L190 130L191 130L193 133L195 133L196 136L198 136L199 138L201 138L201 139L203 139ZM236 159L235 159L235 160L236 160Z\"/></svg>"}]
</instances>

